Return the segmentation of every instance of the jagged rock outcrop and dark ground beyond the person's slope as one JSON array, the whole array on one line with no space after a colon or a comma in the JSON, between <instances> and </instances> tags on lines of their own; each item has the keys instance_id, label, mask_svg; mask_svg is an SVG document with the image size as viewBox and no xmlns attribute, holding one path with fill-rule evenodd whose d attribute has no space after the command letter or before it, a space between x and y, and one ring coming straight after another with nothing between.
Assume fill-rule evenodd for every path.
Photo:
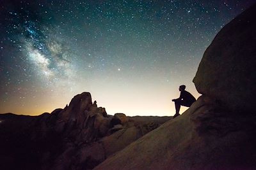
<instances>
[{"instance_id":1,"label":"jagged rock outcrop and dark ground beyond the person's slope","mask_svg":"<svg viewBox=\"0 0 256 170\"><path fill-rule=\"evenodd\" d=\"M92 169L167 120L108 115L89 92L51 114L2 114L0 169Z\"/></svg>"}]
</instances>

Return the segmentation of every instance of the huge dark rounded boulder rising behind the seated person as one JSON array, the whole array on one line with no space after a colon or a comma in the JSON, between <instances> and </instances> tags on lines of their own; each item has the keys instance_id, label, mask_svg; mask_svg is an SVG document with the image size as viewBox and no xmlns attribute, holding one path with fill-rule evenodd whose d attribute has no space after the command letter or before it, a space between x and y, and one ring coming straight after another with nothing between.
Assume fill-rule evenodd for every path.
<instances>
[{"instance_id":1,"label":"huge dark rounded boulder rising behind the seated person","mask_svg":"<svg viewBox=\"0 0 256 170\"><path fill-rule=\"evenodd\" d=\"M216 35L193 80L200 94L228 110L256 111L256 4Z\"/></svg>"}]
</instances>

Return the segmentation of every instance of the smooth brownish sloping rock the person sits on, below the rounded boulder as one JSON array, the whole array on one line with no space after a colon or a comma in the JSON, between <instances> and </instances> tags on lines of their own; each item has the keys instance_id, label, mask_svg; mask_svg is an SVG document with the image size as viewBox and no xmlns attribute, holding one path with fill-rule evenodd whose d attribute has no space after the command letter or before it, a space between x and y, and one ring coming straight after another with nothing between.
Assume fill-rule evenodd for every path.
<instances>
[{"instance_id":1,"label":"smooth brownish sloping rock the person sits on, below the rounded boulder","mask_svg":"<svg viewBox=\"0 0 256 170\"><path fill-rule=\"evenodd\" d=\"M218 106L210 97L199 97L182 115L94 169L256 169L256 117L234 117Z\"/></svg>"}]
</instances>

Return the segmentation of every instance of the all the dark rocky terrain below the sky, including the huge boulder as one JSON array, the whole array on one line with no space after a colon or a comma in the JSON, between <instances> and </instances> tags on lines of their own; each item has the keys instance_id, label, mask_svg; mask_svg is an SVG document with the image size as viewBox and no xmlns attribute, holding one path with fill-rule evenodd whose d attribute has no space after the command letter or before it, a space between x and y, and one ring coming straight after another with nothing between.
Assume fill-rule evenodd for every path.
<instances>
[{"instance_id":1,"label":"all the dark rocky terrain below the sky, including the huge boulder","mask_svg":"<svg viewBox=\"0 0 256 170\"><path fill-rule=\"evenodd\" d=\"M0 115L0 169L256 169L256 4L216 35L182 115L110 116L90 93L38 117Z\"/></svg>"}]
</instances>

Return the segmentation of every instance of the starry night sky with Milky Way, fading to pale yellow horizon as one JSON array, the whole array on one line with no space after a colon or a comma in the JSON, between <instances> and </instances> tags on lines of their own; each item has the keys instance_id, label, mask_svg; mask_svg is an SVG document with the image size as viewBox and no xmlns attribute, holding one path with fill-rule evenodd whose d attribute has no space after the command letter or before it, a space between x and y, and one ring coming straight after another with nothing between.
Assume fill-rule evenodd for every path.
<instances>
[{"instance_id":1,"label":"starry night sky with Milky Way, fading to pale yellow horizon","mask_svg":"<svg viewBox=\"0 0 256 170\"><path fill-rule=\"evenodd\" d=\"M0 0L0 113L51 113L90 92L110 115L174 115L179 85L200 96L205 49L253 3Z\"/></svg>"}]
</instances>

